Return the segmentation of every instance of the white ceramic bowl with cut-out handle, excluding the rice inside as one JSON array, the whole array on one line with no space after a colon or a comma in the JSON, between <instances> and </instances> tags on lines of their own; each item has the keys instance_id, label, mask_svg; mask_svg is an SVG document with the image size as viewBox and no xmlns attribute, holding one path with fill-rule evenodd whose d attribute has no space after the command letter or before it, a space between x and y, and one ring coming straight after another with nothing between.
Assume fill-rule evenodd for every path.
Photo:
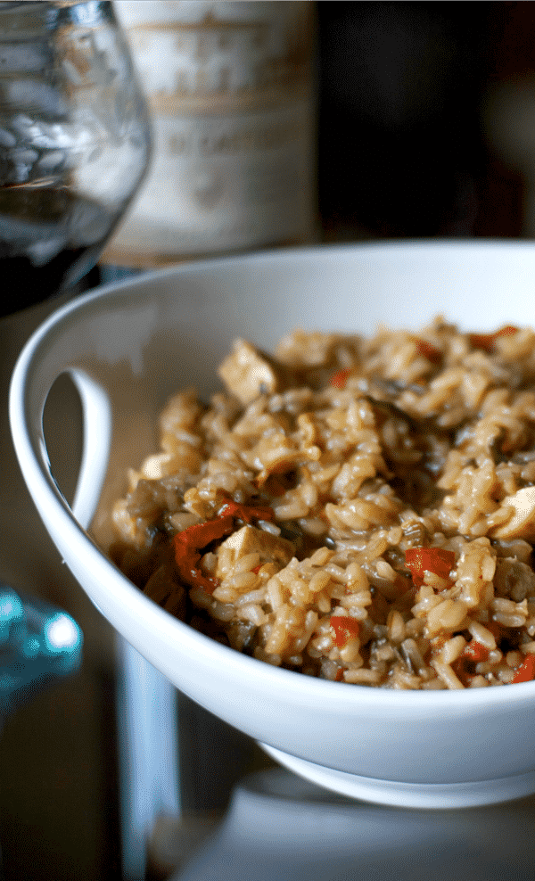
<instances>
[{"instance_id":1,"label":"white ceramic bowl with cut-out handle, excluding the rice inside","mask_svg":"<svg viewBox=\"0 0 535 881\"><path fill-rule=\"evenodd\" d=\"M111 624L177 688L288 768L346 795L411 807L535 792L535 682L393 692L273 668L154 605L83 525L98 502L93 535L105 540L102 513L124 489L128 465L154 449L165 400L191 383L203 394L217 387L215 368L235 336L269 349L295 326L417 328L437 313L465 329L535 324L535 246L377 244L150 273L59 309L22 351L10 399L12 437L37 510ZM74 513L53 481L42 429L46 394L64 371L78 385L86 422Z\"/></svg>"}]
</instances>

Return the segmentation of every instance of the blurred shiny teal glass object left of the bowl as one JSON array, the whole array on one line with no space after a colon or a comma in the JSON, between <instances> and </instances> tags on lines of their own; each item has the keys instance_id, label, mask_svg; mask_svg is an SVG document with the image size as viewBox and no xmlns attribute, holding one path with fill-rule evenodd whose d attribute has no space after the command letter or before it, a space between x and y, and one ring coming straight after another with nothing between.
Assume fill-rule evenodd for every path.
<instances>
[{"instance_id":1,"label":"blurred shiny teal glass object left of the bowl","mask_svg":"<svg viewBox=\"0 0 535 881\"><path fill-rule=\"evenodd\" d=\"M69 614L0 584L0 717L77 671L82 644Z\"/></svg>"}]
</instances>

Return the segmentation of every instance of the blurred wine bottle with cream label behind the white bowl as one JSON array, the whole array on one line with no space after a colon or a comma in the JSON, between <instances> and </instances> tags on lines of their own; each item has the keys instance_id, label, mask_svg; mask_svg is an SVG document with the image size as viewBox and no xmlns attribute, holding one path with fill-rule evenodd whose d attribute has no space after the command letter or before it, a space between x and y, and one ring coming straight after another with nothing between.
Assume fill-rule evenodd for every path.
<instances>
[{"instance_id":1,"label":"blurred wine bottle with cream label behind the white bowl","mask_svg":"<svg viewBox=\"0 0 535 881\"><path fill-rule=\"evenodd\" d=\"M114 0L152 169L104 260L132 267L317 237L311 0Z\"/></svg>"}]
</instances>

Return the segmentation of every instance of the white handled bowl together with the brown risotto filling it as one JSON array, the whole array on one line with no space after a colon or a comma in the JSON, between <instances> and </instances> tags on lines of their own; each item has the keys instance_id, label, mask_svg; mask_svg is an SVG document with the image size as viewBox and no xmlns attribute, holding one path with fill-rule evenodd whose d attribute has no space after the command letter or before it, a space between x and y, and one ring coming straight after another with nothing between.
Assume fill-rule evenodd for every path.
<instances>
[{"instance_id":1,"label":"white handled bowl together with the brown risotto filling it","mask_svg":"<svg viewBox=\"0 0 535 881\"><path fill-rule=\"evenodd\" d=\"M535 792L533 270L509 243L191 264L68 304L15 370L21 468L89 597L346 795ZM41 423L63 372L72 509Z\"/></svg>"}]
</instances>

